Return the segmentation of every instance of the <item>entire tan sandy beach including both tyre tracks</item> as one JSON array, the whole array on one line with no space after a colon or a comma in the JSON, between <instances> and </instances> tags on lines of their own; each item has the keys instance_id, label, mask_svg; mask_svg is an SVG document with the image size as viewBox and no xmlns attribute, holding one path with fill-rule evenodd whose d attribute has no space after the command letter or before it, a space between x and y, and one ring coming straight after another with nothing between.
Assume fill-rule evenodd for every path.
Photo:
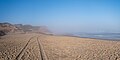
<instances>
[{"instance_id":1,"label":"entire tan sandy beach including both tyre tracks","mask_svg":"<svg viewBox=\"0 0 120 60\"><path fill-rule=\"evenodd\" d=\"M12 34L0 39L0 60L120 60L120 42Z\"/></svg>"}]
</instances>

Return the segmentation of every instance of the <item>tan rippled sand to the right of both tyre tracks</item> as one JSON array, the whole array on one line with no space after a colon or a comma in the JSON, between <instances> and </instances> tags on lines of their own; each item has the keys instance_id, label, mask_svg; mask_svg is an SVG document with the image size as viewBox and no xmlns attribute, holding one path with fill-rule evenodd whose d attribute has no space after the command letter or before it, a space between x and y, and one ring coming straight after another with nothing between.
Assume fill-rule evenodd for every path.
<instances>
[{"instance_id":1,"label":"tan rippled sand to the right of both tyre tracks","mask_svg":"<svg viewBox=\"0 0 120 60\"><path fill-rule=\"evenodd\" d=\"M42 40L49 60L120 60L120 42L65 36Z\"/></svg>"}]
</instances>

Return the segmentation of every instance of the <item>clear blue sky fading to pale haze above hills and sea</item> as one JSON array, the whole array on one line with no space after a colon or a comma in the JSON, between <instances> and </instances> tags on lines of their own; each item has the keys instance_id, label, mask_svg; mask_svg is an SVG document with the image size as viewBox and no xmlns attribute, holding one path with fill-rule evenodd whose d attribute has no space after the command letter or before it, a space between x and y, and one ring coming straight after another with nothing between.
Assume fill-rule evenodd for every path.
<instances>
[{"instance_id":1,"label":"clear blue sky fading to pale haze above hills and sea","mask_svg":"<svg viewBox=\"0 0 120 60\"><path fill-rule=\"evenodd\" d=\"M0 22L55 33L120 32L120 0L0 0Z\"/></svg>"}]
</instances>

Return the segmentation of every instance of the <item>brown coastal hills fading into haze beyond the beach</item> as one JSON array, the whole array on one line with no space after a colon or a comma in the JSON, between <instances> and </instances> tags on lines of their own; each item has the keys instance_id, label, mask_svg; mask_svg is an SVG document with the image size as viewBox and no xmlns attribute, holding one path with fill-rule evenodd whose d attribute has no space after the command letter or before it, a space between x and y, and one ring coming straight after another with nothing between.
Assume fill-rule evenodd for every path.
<instances>
[{"instance_id":1,"label":"brown coastal hills fading into haze beyond the beach","mask_svg":"<svg viewBox=\"0 0 120 60\"><path fill-rule=\"evenodd\" d=\"M0 36L8 33L50 33L46 26L0 23Z\"/></svg>"}]
</instances>

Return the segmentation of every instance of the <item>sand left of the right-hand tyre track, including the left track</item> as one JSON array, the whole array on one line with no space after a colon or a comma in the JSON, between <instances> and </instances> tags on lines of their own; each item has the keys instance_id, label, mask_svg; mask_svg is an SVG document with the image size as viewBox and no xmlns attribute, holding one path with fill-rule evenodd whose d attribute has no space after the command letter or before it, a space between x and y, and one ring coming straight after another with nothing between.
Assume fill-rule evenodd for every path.
<instances>
[{"instance_id":1,"label":"sand left of the right-hand tyre track, including the left track","mask_svg":"<svg viewBox=\"0 0 120 60\"><path fill-rule=\"evenodd\" d=\"M40 60L37 34L6 35L0 39L0 60Z\"/></svg>"}]
</instances>

